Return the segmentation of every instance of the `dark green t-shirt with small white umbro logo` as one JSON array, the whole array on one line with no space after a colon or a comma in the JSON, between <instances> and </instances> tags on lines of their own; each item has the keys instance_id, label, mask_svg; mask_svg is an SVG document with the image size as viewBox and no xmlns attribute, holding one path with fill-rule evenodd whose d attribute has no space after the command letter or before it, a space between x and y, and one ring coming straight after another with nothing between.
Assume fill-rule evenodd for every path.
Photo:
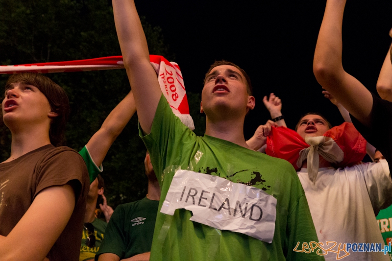
<instances>
[{"instance_id":1,"label":"dark green t-shirt with small white umbro logo","mask_svg":"<svg viewBox=\"0 0 392 261\"><path fill-rule=\"evenodd\" d=\"M120 260L149 252L159 201L147 197L119 205L109 220L97 254L113 253Z\"/></svg>"}]
</instances>

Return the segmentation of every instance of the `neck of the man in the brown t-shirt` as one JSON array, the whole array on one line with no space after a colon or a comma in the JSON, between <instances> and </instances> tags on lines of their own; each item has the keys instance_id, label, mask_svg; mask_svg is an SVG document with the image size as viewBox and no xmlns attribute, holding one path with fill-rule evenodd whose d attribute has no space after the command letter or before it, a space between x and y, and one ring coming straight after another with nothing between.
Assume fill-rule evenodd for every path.
<instances>
[{"instance_id":1,"label":"neck of the man in the brown t-shirt","mask_svg":"<svg viewBox=\"0 0 392 261\"><path fill-rule=\"evenodd\" d=\"M50 144L49 130L36 129L35 131L12 132L11 155L5 162L13 161L26 153Z\"/></svg>"}]
</instances>

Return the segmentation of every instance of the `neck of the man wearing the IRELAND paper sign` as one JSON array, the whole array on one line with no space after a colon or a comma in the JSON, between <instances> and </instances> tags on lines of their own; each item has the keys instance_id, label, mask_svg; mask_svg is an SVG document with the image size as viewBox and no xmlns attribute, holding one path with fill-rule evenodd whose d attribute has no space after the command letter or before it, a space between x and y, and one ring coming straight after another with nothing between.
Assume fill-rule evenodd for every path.
<instances>
[{"instance_id":1,"label":"neck of the man wearing the IRELAND paper sign","mask_svg":"<svg viewBox=\"0 0 392 261\"><path fill-rule=\"evenodd\" d=\"M207 117L205 134L251 149L245 142L244 118L211 120Z\"/></svg>"}]
</instances>

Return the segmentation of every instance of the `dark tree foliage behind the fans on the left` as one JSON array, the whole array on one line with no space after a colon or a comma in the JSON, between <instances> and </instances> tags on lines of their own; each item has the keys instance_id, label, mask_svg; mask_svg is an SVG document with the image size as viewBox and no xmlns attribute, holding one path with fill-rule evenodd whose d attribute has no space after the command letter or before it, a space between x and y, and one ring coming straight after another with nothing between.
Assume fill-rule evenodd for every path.
<instances>
[{"instance_id":1,"label":"dark tree foliage behind the fans on the left","mask_svg":"<svg viewBox=\"0 0 392 261\"><path fill-rule=\"evenodd\" d=\"M0 64L67 61L120 55L113 10L107 0L0 0ZM161 29L142 18L150 53L174 57ZM129 92L125 70L51 73L70 99L67 145L80 150L110 111ZM4 86L7 75L1 75ZM200 96L189 94L197 133L205 123L197 111ZM196 118L195 118L196 117ZM0 125L0 160L9 157L10 133ZM109 150L103 165L109 204L141 199L147 193L146 148L138 136L135 115Z\"/></svg>"}]
</instances>

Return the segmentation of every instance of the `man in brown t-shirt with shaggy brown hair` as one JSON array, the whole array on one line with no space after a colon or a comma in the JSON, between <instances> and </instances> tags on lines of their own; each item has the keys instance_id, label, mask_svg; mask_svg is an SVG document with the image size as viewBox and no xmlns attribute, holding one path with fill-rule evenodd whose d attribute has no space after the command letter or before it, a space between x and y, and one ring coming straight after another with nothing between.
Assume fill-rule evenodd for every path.
<instances>
[{"instance_id":1,"label":"man in brown t-shirt with shaggy brown hair","mask_svg":"<svg viewBox=\"0 0 392 261\"><path fill-rule=\"evenodd\" d=\"M10 76L4 96L12 142L0 164L1 260L76 261L89 180L77 152L55 147L63 141L68 97L34 73Z\"/></svg>"}]
</instances>

